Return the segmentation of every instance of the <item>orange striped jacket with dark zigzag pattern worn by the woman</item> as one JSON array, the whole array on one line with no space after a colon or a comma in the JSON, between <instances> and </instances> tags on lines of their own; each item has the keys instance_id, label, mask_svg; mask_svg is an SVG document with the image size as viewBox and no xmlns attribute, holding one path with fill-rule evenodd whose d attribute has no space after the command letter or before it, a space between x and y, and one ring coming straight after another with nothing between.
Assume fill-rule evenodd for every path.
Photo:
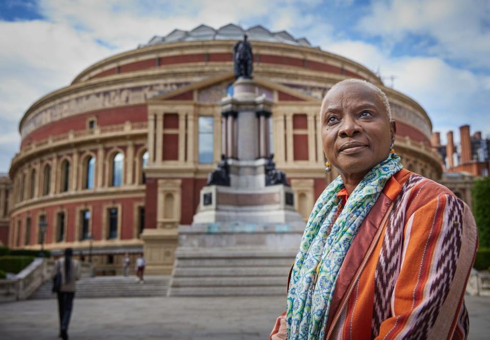
<instances>
[{"instance_id":1,"label":"orange striped jacket with dark zigzag pattern worn by the woman","mask_svg":"<svg viewBox=\"0 0 490 340\"><path fill-rule=\"evenodd\" d=\"M468 206L448 188L402 169L347 252L325 338L466 338L463 296L477 244ZM271 333L282 338L285 313Z\"/></svg>"}]
</instances>

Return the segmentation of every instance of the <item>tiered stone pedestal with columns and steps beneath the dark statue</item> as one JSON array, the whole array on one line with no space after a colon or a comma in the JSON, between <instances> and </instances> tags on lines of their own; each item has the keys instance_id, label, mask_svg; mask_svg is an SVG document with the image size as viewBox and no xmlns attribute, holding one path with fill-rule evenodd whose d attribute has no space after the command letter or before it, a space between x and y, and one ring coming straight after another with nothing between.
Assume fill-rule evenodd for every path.
<instances>
[{"instance_id":1,"label":"tiered stone pedestal with columns and steps beneath the dark statue","mask_svg":"<svg viewBox=\"0 0 490 340\"><path fill-rule=\"evenodd\" d=\"M283 295L305 223L272 161L272 102L252 80L221 101L222 161L179 226L169 296Z\"/></svg>"}]
</instances>

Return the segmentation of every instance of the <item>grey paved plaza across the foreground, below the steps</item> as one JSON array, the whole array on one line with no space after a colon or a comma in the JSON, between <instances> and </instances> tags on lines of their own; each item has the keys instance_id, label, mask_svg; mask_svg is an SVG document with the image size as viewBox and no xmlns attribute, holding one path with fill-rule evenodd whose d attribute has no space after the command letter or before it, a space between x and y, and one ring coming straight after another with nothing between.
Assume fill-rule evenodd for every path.
<instances>
[{"instance_id":1,"label":"grey paved plaza across the foreground, below the steps","mask_svg":"<svg viewBox=\"0 0 490 340\"><path fill-rule=\"evenodd\" d=\"M70 338L266 339L285 297L75 299ZM490 298L466 296L470 339L490 334ZM57 339L56 300L0 305L2 339Z\"/></svg>"}]
</instances>

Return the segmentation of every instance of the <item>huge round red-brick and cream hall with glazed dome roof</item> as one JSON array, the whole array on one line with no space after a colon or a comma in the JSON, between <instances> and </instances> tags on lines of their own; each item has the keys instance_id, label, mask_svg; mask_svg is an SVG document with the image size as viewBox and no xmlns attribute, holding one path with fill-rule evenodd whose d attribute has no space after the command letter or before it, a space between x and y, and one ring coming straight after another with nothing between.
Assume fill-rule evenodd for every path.
<instances>
[{"instance_id":1,"label":"huge round red-brick and cream hall with glazed dome roof","mask_svg":"<svg viewBox=\"0 0 490 340\"><path fill-rule=\"evenodd\" d=\"M232 48L244 34L257 94L273 102L269 148L305 219L338 174L324 172L318 112L325 92L346 78L385 91L403 163L440 177L427 113L374 72L286 31L201 25L101 60L27 110L9 173L9 245L40 248L38 226L46 222L45 249L91 253L100 274L119 273L123 254L142 249L150 273L169 273L177 226L192 223L200 189L221 158L218 103L232 94Z\"/></svg>"}]
</instances>

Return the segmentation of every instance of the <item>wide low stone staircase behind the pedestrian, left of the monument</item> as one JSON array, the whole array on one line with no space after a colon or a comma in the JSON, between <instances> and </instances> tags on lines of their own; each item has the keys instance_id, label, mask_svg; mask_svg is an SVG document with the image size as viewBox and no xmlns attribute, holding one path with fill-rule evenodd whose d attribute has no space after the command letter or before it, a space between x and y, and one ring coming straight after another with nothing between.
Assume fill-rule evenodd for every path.
<instances>
[{"instance_id":1,"label":"wide low stone staircase behind the pedestrian, left of the monument","mask_svg":"<svg viewBox=\"0 0 490 340\"><path fill-rule=\"evenodd\" d=\"M81 278L77 281L77 298L115 298L115 297L152 297L166 296L169 276L145 276L145 283L139 284L134 276L97 276ZM51 280L43 285L30 299L52 299L56 294L51 292Z\"/></svg>"}]
</instances>

